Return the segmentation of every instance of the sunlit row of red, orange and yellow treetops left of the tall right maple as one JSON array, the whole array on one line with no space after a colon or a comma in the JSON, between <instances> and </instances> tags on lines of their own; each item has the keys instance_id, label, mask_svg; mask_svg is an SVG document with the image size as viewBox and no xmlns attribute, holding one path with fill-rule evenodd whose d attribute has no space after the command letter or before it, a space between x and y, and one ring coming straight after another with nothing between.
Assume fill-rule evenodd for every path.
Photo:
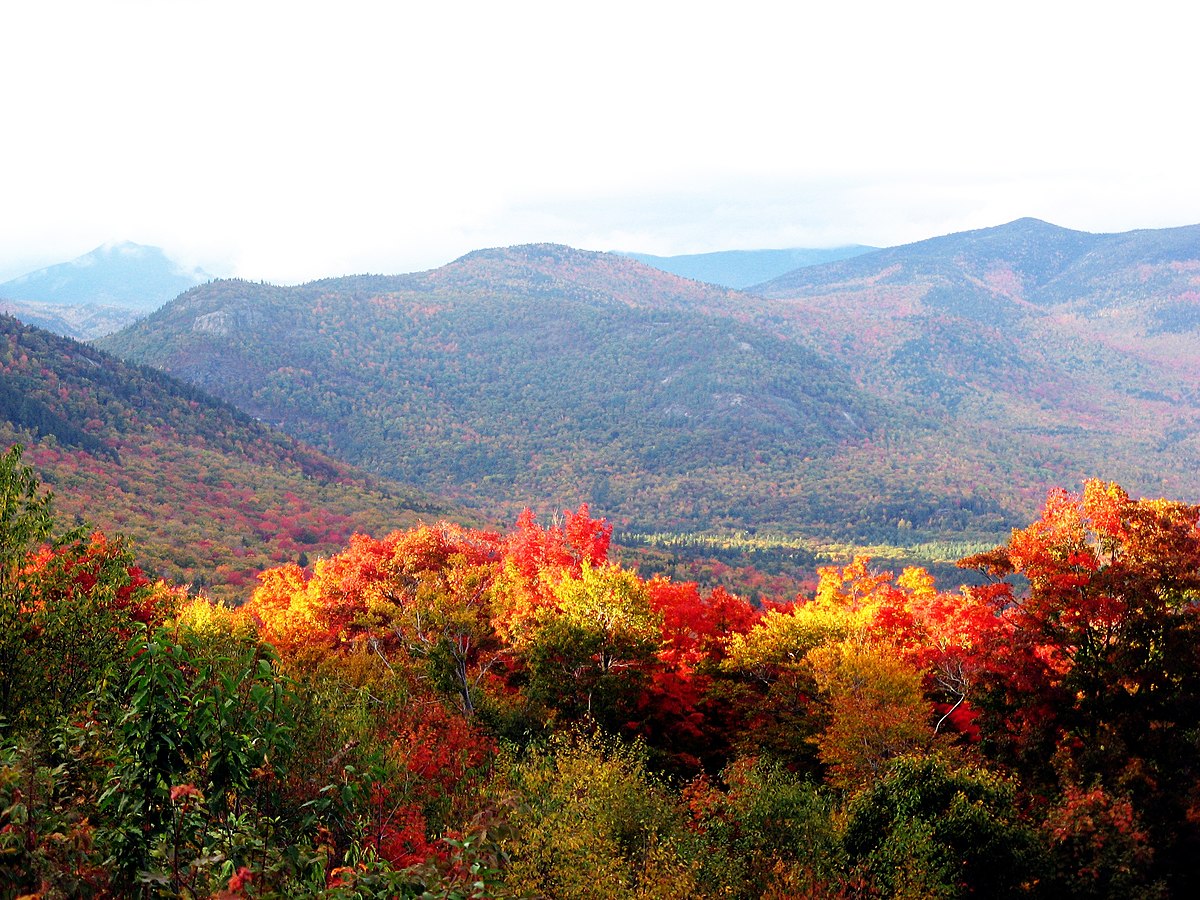
<instances>
[{"instance_id":1,"label":"sunlit row of red, orange and yellow treetops left of the tall right maple","mask_svg":"<svg viewBox=\"0 0 1200 900\"><path fill-rule=\"evenodd\" d=\"M548 527L526 511L508 535L448 523L355 535L311 571L263 572L240 613L293 665L373 654L467 720L482 710L502 732L590 720L682 772L774 743L818 746L854 781L925 737L978 739L974 694L1008 635L986 590L940 593L922 569L894 578L859 558L822 569L811 600L751 605L641 578L608 560L610 534L584 505ZM860 677L878 689L839 694ZM803 725L772 738L780 704ZM893 713L907 737L851 760Z\"/></svg>"}]
</instances>

